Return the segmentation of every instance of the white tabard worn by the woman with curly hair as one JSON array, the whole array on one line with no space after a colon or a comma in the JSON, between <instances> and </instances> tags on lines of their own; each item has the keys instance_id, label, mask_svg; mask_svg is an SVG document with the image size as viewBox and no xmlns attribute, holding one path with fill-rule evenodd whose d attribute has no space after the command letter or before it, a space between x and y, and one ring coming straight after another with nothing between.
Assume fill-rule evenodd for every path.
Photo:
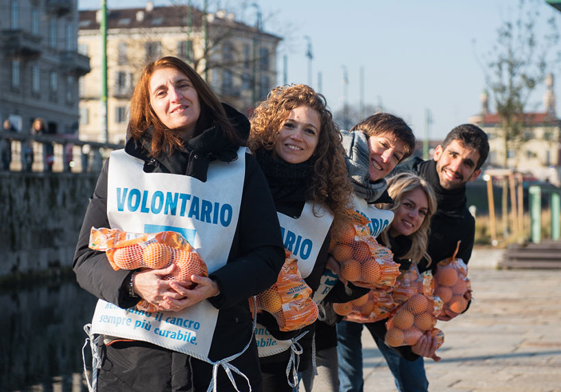
<instances>
[{"instance_id":1,"label":"white tabard worn by the woman with curly hair","mask_svg":"<svg viewBox=\"0 0 561 392\"><path fill-rule=\"evenodd\" d=\"M317 217L313 215L313 202L307 201L297 219L281 212L277 213L285 248L298 259L298 271L302 278L310 275L333 222L333 215L326 208L316 207L315 212ZM259 347L259 356L281 353L288 350L292 343L275 339L267 328L259 323L255 328L255 340Z\"/></svg>"}]
</instances>

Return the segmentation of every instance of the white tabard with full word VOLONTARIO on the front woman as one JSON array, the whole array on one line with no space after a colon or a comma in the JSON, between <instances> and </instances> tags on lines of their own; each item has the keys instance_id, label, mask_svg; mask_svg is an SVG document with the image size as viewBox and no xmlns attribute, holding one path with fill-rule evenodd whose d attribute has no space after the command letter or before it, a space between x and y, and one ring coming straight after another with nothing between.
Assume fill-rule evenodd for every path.
<instances>
[{"instance_id":1,"label":"white tabard with full word VOLONTARIO on the front woman","mask_svg":"<svg viewBox=\"0 0 561 392\"><path fill-rule=\"evenodd\" d=\"M145 173L143 160L124 150L111 153L107 215L111 228L127 232L179 232L202 256L208 273L228 260L239 218L246 149L233 162L211 162L206 182L186 175ZM217 240L219 238L219 241ZM202 301L180 312L145 313L99 300L95 334L147 341L208 357L218 310Z\"/></svg>"}]
</instances>

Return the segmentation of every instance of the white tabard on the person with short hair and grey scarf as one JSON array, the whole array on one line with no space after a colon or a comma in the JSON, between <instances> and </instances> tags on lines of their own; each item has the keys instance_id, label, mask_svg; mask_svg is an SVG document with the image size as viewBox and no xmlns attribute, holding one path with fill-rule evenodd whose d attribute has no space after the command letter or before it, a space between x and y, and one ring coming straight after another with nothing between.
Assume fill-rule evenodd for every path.
<instances>
[{"instance_id":1,"label":"white tabard on the person with short hair and grey scarf","mask_svg":"<svg viewBox=\"0 0 561 392\"><path fill-rule=\"evenodd\" d=\"M375 238L380 235L380 233L387 228L387 225L392 223L394 220L394 213L389 210L380 210L368 204L365 199L353 195L353 210L359 212L363 217L368 218L368 228L372 236ZM313 295L313 300L319 304L326 297L333 286L337 283L337 275L333 273L330 269L326 269L320 280L320 287L315 291Z\"/></svg>"}]
</instances>

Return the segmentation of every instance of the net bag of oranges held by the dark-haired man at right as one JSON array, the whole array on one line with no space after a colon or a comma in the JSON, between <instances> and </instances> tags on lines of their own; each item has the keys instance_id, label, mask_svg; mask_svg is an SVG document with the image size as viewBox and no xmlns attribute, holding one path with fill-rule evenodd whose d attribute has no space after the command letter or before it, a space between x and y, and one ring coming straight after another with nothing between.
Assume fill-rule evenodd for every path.
<instances>
[{"instance_id":1,"label":"net bag of oranges held by the dark-haired man at right","mask_svg":"<svg viewBox=\"0 0 561 392\"><path fill-rule=\"evenodd\" d=\"M458 249L459 241L453 256L436 265L434 294L442 299L444 310L459 314L468 307L468 300L464 295L471 291L471 284L468 266L461 258L456 258Z\"/></svg>"}]
</instances>

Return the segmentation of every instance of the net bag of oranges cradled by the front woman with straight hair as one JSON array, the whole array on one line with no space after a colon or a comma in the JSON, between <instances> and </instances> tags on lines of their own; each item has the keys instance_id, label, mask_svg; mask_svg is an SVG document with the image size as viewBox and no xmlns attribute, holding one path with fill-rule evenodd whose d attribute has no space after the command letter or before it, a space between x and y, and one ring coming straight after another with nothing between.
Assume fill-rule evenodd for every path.
<instances>
[{"instance_id":1,"label":"net bag of oranges cradled by the front woman with straight hair","mask_svg":"<svg viewBox=\"0 0 561 392\"><path fill-rule=\"evenodd\" d=\"M118 229L91 228L91 249L106 252L115 271L118 269L165 268L175 263L176 268L164 280L191 280L191 275L208 276L206 264L176 232L153 234L123 232Z\"/></svg>"}]
</instances>

